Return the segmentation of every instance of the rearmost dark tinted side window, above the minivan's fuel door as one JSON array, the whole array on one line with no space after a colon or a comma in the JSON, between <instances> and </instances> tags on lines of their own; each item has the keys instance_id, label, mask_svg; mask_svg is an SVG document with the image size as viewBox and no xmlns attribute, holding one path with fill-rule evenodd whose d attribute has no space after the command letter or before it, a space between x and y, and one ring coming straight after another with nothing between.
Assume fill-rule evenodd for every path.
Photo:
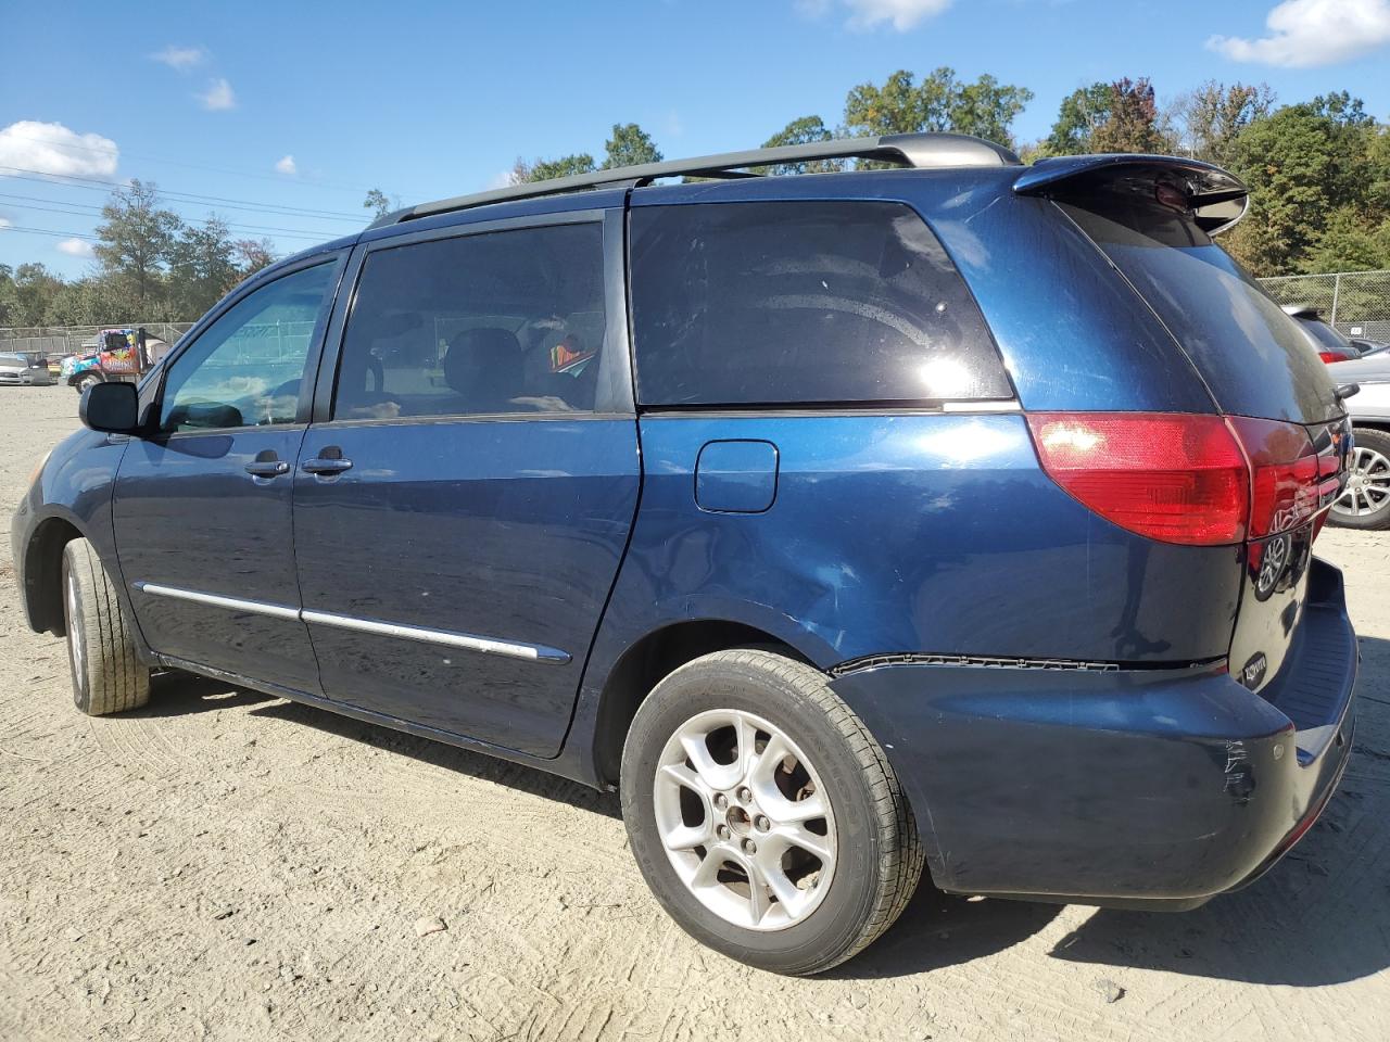
<instances>
[{"instance_id":1,"label":"rearmost dark tinted side window, above the minivan's fuel door","mask_svg":"<svg viewBox=\"0 0 1390 1042\"><path fill-rule=\"evenodd\" d=\"M635 207L645 406L1011 397L980 310L909 207Z\"/></svg>"}]
</instances>

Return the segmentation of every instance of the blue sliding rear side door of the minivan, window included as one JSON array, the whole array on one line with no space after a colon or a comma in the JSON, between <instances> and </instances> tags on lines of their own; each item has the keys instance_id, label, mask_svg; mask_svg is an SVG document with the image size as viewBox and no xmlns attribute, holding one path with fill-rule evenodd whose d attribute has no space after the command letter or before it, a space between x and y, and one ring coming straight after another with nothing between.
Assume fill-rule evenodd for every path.
<instances>
[{"instance_id":1,"label":"blue sliding rear side door of the minivan, window included","mask_svg":"<svg viewBox=\"0 0 1390 1042\"><path fill-rule=\"evenodd\" d=\"M621 256L620 211L363 250L295 478L328 697L559 750L637 508Z\"/></svg>"}]
</instances>

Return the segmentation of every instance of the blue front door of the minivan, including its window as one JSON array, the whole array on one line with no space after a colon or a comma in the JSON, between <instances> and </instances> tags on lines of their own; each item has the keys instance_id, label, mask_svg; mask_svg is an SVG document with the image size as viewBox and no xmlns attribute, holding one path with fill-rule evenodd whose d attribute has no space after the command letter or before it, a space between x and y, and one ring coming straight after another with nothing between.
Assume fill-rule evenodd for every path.
<instances>
[{"instance_id":1,"label":"blue front door of the minivan, including its window","mask_svg":"<svg viewBox=\"0 0 1390 1042\"><path fill-rule=\"evenodd\" d=\"M150 647L310 693L293 468L338 260L250 290L170 361L157 429L132 439L114 495L117 556Z\"/></svg>"}]
</instances>

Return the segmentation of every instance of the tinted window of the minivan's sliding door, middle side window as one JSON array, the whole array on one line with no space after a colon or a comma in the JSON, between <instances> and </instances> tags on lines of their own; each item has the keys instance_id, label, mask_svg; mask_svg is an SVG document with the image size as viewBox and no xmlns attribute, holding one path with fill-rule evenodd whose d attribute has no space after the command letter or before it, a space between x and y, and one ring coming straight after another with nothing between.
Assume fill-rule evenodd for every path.
<instances>
[{"instance_id":1,"label":"tinted window of the minivan's sliding door, middle side window","mask_svg":"<svg viewBox=\"0 0 1390 1042\"><path fill-rule=\"evenodd\" d=\"M603 331L596 222L378 250L348 320L334 418L588 411Z\"/></svg>"}]
</instances>

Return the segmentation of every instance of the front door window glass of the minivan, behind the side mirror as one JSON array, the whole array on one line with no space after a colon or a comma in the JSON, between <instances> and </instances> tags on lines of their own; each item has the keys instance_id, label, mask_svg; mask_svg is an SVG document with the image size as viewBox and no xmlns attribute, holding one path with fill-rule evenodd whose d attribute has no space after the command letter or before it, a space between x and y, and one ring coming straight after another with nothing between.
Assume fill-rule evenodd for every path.
<instances>
[{"instance_id":1,"label":"front door window glass of the minivan, behind the side mirror","mask_svg":"<svg viewBox=\"0 0 1390 1042\"><path fill-rule=\"evenodd\" d=\"M285 275L242 297L174 360L161 431L292 424L335 264Z\"/></svg>"}]
</instances>

